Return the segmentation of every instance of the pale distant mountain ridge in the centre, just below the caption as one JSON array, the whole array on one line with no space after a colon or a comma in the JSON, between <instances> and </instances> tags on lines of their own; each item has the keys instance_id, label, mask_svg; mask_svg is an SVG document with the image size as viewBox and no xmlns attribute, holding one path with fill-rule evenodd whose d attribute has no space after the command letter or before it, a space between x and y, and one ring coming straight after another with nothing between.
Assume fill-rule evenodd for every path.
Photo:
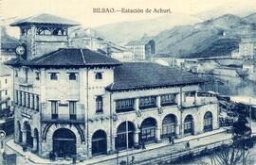
<instances>
[{"instance_id":1,"label":"pale distant mountain ridge in the centre, just below the caption","mask_svg":"<svg viewBox=\"0 0 256 165\"><path fill-rule=\"evenodd\" d=\"M139 39L145 33L148 36L155 36L160 31L170 29L174 25L192 25L199 22L202 20L190 15L171 13L154 19L101 25L95 29L110 41L125 43Z\"/></svg>"}]
</instances>

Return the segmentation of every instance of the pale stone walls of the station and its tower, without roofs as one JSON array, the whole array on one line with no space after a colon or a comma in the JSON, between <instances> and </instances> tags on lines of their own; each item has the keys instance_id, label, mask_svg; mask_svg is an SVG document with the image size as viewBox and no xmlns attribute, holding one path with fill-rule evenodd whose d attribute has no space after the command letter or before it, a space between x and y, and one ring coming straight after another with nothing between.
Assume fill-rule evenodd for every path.
<instances>
[{"instance_id":1,"label":"pale stone walls of the station and its tower, without roofs","mask_svg":"<svg viewBox=\"0 0 256 165\"><path fill-rule=\"evenodd\" d=\"M68 36L38 35L35 28L28 26L27 39L21 37L22 41L27 41L27 59L65 45ZM53 34L56 28L49 26L44 33L51 31ZM196 84L108 91L107 87L115 83L113 65L77 68L19 65L13 72L15 142L26 144L40 157L49 157L52 151L59 157L113 154L124 146L123 136L127 135L129 144L135 147L141 140L160 142L163 121L170 114L174 116L171 126L174 126L176 138L187 136L185 129L197 135L208 131L206 124L210 130L219 127L217 99L198 97ZM172 105L163 106L162 96L167 94L174 100ZM154 107L140 108L142 98L146 104L151 98ZM131 100L132 108L119 111L119 100L127 99ZM210 113L208 118L207 113ZM189 122L187 116L190 116ZM149 120L153 122L148 123ZM126 129L122 124L126 124ZM152 124L151 127L148 124ZM127 134L123 134L124 130Z\"/></svg>"}]
</instances>

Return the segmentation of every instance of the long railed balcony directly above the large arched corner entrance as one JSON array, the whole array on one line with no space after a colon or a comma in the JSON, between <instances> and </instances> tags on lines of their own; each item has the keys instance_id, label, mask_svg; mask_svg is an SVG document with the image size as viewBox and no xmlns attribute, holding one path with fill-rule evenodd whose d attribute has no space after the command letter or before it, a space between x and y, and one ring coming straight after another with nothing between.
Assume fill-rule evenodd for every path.
<instances>
[{"instance_id":1,"label":"long railed balcony directly above the large arched corner entrance","mask_svg":"<svg viewBox=\"0 0 256 165\"><path fill-rule=\"evenodd\" d=\"M54 124L84 124L84 114L42 114L42 122Z\"/></svg>"}]
</instances>

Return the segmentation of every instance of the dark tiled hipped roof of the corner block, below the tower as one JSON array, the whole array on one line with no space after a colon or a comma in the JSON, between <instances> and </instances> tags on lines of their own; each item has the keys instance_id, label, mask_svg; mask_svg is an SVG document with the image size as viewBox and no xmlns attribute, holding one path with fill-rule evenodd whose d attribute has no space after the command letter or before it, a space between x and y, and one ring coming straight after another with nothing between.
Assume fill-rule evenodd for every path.
<instances>
[{"instance_id":1,"label":"dark tiled hipped roof of the corner block, below the tower","mask_svg":"<svg viewBox=\"0 0 256 165\"><path fill-rule=\"evenodd\" d=\"M86 66L115 66L121 63L101 53L89 49L62 48L46 54L40 58L33 58L29 61L24 59L13 59L6 62L9 65L22 63L34 67L86 67Z\"/></svg>"}]
</instances>

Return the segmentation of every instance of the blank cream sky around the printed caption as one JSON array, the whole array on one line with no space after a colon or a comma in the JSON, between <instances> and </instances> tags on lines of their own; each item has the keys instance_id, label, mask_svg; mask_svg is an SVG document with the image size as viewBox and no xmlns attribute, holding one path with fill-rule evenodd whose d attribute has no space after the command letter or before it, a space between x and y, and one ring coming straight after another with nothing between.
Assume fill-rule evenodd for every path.
<instances>
[{"instance_id":1,"label":"blank cream sky around the printed caption","mask_svg":"<svg viewBox=\"0 0 256 165\"><path fill-rule=\"evenodd\" d=\"M93 8L171 8L172 12L194 15L237 1L241 0L2 0L0 6L1 18L4 19L49 13L95 27L150 19L162 14L93 13Z\"/></svg>"}]
</instances>

